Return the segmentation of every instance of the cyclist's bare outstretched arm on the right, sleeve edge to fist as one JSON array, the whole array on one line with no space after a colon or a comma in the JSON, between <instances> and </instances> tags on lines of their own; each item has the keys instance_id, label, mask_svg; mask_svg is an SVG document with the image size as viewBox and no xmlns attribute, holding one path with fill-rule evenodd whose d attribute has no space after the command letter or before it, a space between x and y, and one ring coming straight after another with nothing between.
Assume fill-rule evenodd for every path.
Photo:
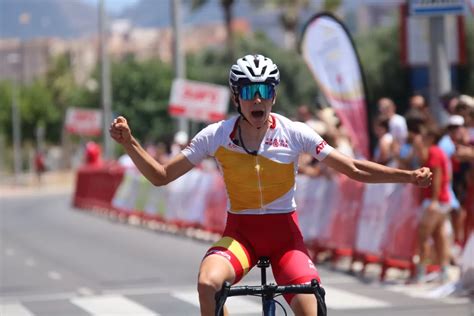
<instances>
[{"instance_id":1,"label":"cyclist's bare outstretched arm on the right, sleeve edge to fist","mask_svg":"<svg viewBox=\"0 0 474 316\"><path fill-rule=\"evenodd\" d=\"M351 179L367 183L413 183L426 187L431 185L433 177L426 167L416 170L391 168L368 160L353 159L337 150L332 150L323 163Z\"/></svg>"}]
</instances>

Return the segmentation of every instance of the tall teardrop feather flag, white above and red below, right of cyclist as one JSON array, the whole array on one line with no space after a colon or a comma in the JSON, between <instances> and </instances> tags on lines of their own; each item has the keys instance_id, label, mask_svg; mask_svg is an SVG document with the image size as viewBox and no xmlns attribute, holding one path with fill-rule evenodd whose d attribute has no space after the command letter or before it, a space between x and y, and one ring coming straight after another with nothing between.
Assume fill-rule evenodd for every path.
<instances>
[{"instance_id":1,"label":"tall teardrop feather flag, white above and red below, right of cyclist","mask_svg":"<svg viewBox=\"0 0 474 316\"><path fill-rule=\"evenodd\" d=\"M345 26L329 13L307 23L301 52L319 89L348 131L357 154L369 157L364 78Z\"/></svg>"}]
</instances>

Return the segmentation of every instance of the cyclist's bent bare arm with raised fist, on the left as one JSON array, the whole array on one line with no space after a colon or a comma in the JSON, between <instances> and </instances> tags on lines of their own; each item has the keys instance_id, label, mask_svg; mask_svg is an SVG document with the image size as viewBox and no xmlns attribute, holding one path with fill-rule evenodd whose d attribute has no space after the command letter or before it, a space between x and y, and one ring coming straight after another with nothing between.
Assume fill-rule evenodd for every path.
<instances>
[{"instance_id":1,"label":"cyclist's bent bare arm with raised fist, on the left","mask_svg":"<svg viewBox=\"0 0 474 316\"><path fill-rule=\"evenodd\" d=\"M194 167L183 154L178 154L165 165L160 164L132 136L127 120L122 116L112 122L109 133L123 146L145 178L156 186L168 184Z\"/></svg>"}]
</instances>

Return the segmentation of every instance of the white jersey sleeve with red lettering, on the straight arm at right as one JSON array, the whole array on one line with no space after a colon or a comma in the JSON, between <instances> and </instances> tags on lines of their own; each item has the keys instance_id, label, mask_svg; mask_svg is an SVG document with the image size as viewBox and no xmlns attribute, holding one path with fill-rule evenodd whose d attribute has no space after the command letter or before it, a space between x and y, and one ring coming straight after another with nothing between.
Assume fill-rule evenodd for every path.
<instances>
[{"instance_id":1,"label":"white jersey sleeve with red lettering, on the straight arm at right","mask_svg":"<svg viewBox=\"0 0 474 316\"><path fill-rule=\"evenodd\" d=\"M301 151L321 161L334 149L318 133L305 123L295 122L297 140Z\"/></svg>"}]
</instances>

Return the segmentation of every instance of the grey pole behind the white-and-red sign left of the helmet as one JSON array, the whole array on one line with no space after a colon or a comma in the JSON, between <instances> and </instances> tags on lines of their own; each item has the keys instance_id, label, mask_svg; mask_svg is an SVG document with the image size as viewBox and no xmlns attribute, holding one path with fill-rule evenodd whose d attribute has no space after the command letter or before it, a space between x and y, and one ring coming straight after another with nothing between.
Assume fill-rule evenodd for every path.
<instances>
[{"instance_id":1,"label":"grey pole behind the white-and-red sign left of the helmet","mask_svg":"<svg viewBox=\"0 0 474 316\"><path fill-rule=\"evenodd\" d=\"M175 78L186 77L186 60L184 56L184 50L182 47L182 16L181 16L181 0L171 1L171 16L173 18L173 56L174 56L174 71ZM188 132L188 120L180 117L178 119L179 130Z\"/></svg>"}]
</instances>

